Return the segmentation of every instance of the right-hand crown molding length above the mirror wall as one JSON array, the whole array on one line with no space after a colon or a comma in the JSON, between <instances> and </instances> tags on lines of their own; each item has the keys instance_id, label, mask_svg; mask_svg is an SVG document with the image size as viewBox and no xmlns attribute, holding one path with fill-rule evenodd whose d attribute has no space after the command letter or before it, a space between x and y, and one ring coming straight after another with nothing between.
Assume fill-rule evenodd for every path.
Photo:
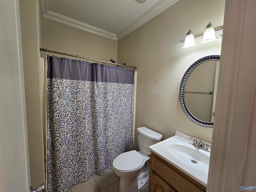
<instances>
[{"instance_id":1,"label":"right-hand crown molding length above the mirror wall","mask_svg":"<svg viewBox=\"0 0 256 192\"><path fill-rule=\"evenodd\" d=\"M124 28L121 32L117 34L117 40L125 37L132 31L136 30L144 23L148 22L150 19L154 18L162 11L166 10L168 7L172 6L174 3L178 2L179 0L161 0L157 4L155 4L152 8L150 8L147 12L145 12L142 16Z\"/></svg>"}]
</instances>

